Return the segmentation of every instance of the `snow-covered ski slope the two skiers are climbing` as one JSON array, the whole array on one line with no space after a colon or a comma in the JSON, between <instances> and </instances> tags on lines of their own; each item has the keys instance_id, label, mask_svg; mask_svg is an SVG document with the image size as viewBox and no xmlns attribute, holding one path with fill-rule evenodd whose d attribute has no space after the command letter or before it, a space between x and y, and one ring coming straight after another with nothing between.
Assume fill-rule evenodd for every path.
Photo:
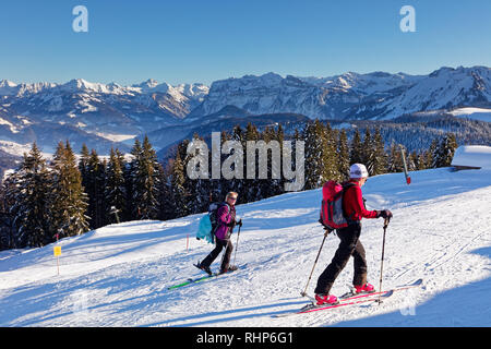
<instances>
[{"instance_id":1,"label":"snow-covered ski slope the two skiers are climbing","mask_svg":"<svg viewBox=\"0 0 491 349\"><path fill-rule=\"evenodd\" d=\"M424 279L422 288L381 305L272 317L307 302L300 291L323 238L321 192L312 190L239 205L237 264L246 267L171 291L168 286L201 275L192 263L212 250L193 238L202 215L63 239L59 276L53 245L0 252L0 326L490 326L491 171L444 168L411 178L407 185L402 173L378 176L363 188L369 208L394 214L384 288ZM376 287L382 224L363 220L361 236ZM326 239L310 294L337 244L335 236ZM344 293L351 278L350 262L333 293Z\"/></svg>"}]
</instances>

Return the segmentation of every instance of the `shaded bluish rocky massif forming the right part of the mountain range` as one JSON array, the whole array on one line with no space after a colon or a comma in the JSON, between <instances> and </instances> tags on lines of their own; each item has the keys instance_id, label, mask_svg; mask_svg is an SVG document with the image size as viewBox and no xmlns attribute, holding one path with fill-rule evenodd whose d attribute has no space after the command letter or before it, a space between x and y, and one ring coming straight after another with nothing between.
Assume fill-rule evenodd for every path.
<instances>
[{"instance_id":1,"label":"shaded bluish rocky massif forming the right part of the mountain range","mask_svg":"<svg viewBox=\"0 0 491 349\"><path fill-rule=\"evenodd\" d=\"M214 82L193 115L232 105L253 113L296 112L319 119L393 119L418 111L491 107L491 69L441 68L429 75L348 72L332 77L268 73Z\"/></svg>"}]
</instances>

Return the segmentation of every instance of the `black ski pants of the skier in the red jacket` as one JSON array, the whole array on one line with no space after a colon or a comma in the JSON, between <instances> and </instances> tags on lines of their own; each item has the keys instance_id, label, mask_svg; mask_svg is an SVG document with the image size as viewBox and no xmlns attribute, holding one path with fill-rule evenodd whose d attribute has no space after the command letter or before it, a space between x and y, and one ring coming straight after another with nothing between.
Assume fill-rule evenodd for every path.
<instances>
[{"instance_id":1,"label":"black ski pants of the skier in the red jacket","mask_svg":"<svg viewBox=\"0 0 491 349\"><path fill-rule=\"evenodd\" d=\"M352 285L364 285L367 282L367 260L363 245L360 242L361 222L350 225L347 228L338 229L337 237L340 240L339 246L334 254L331 264L318 279L315 288L316 294L327 294L333 287L339 273L348 263L349 257L354 257L355 276Z\"/></svg>"}]
</instances>

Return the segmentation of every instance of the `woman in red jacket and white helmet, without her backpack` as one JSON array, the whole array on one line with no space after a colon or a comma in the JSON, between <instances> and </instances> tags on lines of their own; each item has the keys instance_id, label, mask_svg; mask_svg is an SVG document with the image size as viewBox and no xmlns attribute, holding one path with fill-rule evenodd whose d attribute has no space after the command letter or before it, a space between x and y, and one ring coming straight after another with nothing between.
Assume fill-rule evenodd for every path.
<instances>
[{"instance_id":1,"label":"woman in red jacket and white helmet, without her backpack","mask_svg":"<svg viewBox=\"0 0 491 349\"><path fill-rule=\"evenodd\" d=\"M362 218L391 218L392 213L385 210L367 210L363 203L361 186L368 180L368 171L364 165L355 164L349 169L349 182L355 183L346 189L343 196L343 210L346 217L349 217L349 225L346 228L338 229L337 237L340 240L339 246L331 262L318 279L315 287L315 300L318 305L335 304L337 297L330 294L331 288L339 273L348 263L349 257L355 260L355 276L352 284L356 292L371 292L373 286L367 282L367 260L364 249L359 238L361 233ZM344 184L344 186L347 183Z\"/></svg>"}]
</instances>

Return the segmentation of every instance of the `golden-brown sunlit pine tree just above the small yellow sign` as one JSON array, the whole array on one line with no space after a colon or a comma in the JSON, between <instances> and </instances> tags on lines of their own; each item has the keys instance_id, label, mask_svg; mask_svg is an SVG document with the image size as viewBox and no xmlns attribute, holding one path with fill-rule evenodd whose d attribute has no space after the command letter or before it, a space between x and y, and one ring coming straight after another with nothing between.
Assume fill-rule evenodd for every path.
<instances>
[{"instance_id":1,"label":"golden-brown sunlit pine tree just above the small yellow sign","mask_svg":"<svg viewBox=\"0 0 491 349\"><path fill-rule=\"evenodd\" d=\"M88 230L87 197L75 155L67 141L58 144L52 160L51 229L60 237L82 234Z\"/></svg>"}]
</instances>

